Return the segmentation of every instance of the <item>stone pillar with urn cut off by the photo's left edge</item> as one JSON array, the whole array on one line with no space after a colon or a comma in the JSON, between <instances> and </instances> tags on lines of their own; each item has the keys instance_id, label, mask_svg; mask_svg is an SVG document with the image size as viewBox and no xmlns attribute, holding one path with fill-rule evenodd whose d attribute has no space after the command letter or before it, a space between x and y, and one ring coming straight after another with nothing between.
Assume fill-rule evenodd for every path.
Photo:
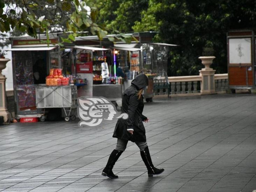
<instances>
[{"instance_id":1,"label":"stone pillar with urn cut off by the photo's left edge","mask_svg":"<svg viewBox=\"0 0 256 192\"><path fill-rule=\"evenodd\" d=\"M2 74L2 70L5 69L8 61L10 61L10 59L0 58L0 116L3 116L4 122L7 122L8 119L10 119L10 113L6 107L6 77Z\"/></svg>"}]
</instances>

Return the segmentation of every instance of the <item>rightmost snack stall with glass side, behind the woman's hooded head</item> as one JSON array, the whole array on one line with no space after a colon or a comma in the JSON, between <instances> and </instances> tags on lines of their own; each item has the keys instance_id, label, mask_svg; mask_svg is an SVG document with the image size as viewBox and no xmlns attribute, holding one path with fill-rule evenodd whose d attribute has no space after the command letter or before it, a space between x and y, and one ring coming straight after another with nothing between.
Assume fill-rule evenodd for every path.
<instances>
[{"instance_id":1,"label":"rightmost snack stall with glass side, behind the woman's hooded head","mask_svg":"<svg viewBox=\"0 0 256 192\"><path fill-rule=\"evenodd\" d=\"M154 82L158 82L159 79L167 79L167 59L168 59L168 47L177 46L174 44L166 43L131 43L122 44L117 43L114 45L115 49L119 50L121 55L122 67L128 69L126 71L126 80L124 81L124 87L128 87L131 84L134 75L138 73L144 73L147 75L149 84L144 88L143 96L147 102L152 102L154 97ZM140 49L136 50L136 47ZM124 52L126 51L126 52ZM128 55L128 56L127 56ZM123 62L123 58L129 58L128 61ZM130 64L130 68L127 63ZM166 82L168 83L168 81ZM157 91L157 90L156 90Z\"/></svg>"}]
</instances>

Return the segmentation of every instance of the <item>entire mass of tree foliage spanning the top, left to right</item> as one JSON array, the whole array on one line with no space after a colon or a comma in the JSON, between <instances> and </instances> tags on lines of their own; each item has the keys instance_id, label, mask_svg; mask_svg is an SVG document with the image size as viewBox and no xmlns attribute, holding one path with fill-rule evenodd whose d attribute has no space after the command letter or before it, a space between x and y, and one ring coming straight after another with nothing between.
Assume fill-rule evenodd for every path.
<instances>
[{"instance_id":1,"label":"entire mass of tree foliage spanning the top, left to right","mask_svg":"<svg viewBox=\"0 0 256 192\"><path fill-rule=\"evenodd\" d=\"M132 37L124 33L159 31L155 41L180 45L169 49L169 76L198 74L198 57L206 54L216 56L217 72L226 72L227 31L255 24L253 0L0 0L1 32L14 29L36 37L73 31L63 42L71 42L77 31L100 38L110 32L120 35L109 40L129 43Z\"/></svg>"}]
</instances>

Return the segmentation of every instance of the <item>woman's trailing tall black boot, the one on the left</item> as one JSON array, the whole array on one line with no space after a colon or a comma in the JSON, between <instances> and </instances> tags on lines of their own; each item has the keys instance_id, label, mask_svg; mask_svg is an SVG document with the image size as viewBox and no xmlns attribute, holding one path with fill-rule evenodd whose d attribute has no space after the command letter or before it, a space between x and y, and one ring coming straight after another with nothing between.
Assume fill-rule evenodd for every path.
<instances>
[{"instance_id":1,"label":"woman's trailing tall black boot, the one on the left","mask_svg":"<svg viewBox=\"0 0 256 192\"><path fill-rule=\"evenodd\" d=\"M122 154L122 152L123 151L118 151L116 149L114 149L112 151L112 153L110 154L110 156L108 158L107 165L104 168L104 170L102 171L101 175L108 176L109 178L112 178L112 179L118 178L117 175L114 175L114 173L112 172L112 169L115 165L115 162L118 160L118 158Z\"/></svg>"}]
</instances>

